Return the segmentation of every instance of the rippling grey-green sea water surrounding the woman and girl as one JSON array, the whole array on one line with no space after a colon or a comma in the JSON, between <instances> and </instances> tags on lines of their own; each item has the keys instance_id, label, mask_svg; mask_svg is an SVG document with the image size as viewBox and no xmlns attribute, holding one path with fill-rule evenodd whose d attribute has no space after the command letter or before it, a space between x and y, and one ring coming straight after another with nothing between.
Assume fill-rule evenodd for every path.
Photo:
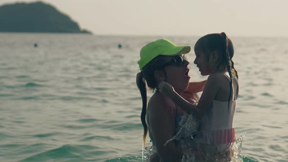
<instances>
[{"instance_id":1,"label":"rippling grey-green sea water surrounding the woman and girl","mask_svg":"<svg viewBox=\"0 0 288 162\"><path fill-rule=\"evenodd\" d=\"M160 38L199 37L0 33L0 162L141 162L137 61ZM288 38L231 39L243 160L288 162ZM206 79L187 56L190 81Z\"/></svg>"}]
</instances>

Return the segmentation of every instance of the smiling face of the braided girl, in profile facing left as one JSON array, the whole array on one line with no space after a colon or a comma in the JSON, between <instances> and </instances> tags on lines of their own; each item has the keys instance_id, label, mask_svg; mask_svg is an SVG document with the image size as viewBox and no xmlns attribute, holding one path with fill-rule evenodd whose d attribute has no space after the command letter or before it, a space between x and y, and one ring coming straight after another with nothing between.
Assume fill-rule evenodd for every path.
<instances>
[{"instance_id":1,"label":"smiling face of the braided girl, in profile facing left","mask_svg":"<svg viewBox=\"0 0 288 162\"><path fill-rule=\"evenodd\" d=\"M196 58L194 64L199 68L202 76L210 75L211 70L209 69L208 58L202 50L195 50Z\"/></svg>"}]
</instances>

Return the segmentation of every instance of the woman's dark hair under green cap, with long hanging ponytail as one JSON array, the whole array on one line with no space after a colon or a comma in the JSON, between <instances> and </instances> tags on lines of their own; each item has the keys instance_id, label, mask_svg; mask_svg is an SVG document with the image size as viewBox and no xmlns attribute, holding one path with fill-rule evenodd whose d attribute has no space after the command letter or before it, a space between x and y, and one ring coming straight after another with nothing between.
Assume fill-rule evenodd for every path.
<instances>
[{"instance_id":1,"label":"woman's dark hair under green cap, with long hanging ponytail","mask_svg":"<svg viewBox=\"0 0 288 162\"><path fill-rule=\"evenodd\" d=\"M154 71L155 70L164 70L164 66L163 65L165 62L163 61L164 57L167 56L163 56L163 55L159 55L156 58L154 58L152 61L150 61L149 63L147 63L143 69L137 73L136 76L136 84L137 87L141 93L141 97L142 97L142 112L141 112L141 122L144 128L144 133L143 133L143 149L144 149L144 145L145 145L145 140L146 140L146 136L148 133L148 127L147 127L147 123L146 123L146 109L147 109L147 89L146 89L146 83L147 86L153 90L153 92L155 92L157 90L158 87L158 82L156 81L156 78L154 76ZM166 78L166 73L164 71L164 75Z\"/></svg>"}]
</instances>

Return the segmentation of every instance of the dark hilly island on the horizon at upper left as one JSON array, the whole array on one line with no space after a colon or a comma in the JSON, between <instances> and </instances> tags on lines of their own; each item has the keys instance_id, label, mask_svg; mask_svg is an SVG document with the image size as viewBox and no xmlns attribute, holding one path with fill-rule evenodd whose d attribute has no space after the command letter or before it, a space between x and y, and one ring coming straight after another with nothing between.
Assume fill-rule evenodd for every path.
<instances>
[{"instance_id":1,"label":"dark hilly island on the horizon at upper left","mask_svg":"<svg viewBox=\"0 0 288 162\"><path fill-rule=\"evenodd\" d=\"M41 1L0 6L0 32L91 33Z\"/></svg>"}]
</instances>

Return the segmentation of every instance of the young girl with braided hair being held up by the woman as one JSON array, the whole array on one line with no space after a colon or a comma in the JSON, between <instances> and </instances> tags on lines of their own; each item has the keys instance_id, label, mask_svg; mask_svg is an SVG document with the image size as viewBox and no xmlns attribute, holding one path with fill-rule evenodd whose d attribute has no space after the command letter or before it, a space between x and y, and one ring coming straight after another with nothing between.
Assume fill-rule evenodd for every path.
<instances>
[{"instance_id":1,"label":"young girl with braided hair being held up by the woman","mask_svg":"<svg viewBox=\"0 0 288 162\"><path fill-rule=\"evenodd\" d=\"M209 75L198 105L183 99L165 81L160 83L159 90L186 113L201 119L199 134L191 140L191 146L217 155L217 160L229 161L230 147L236 141L233 116L239 90L238 74L232 61L233 44L224 32L208 34L196 42L194 51L194 64L201 75Z\"/></svg>"}]
</instances>

